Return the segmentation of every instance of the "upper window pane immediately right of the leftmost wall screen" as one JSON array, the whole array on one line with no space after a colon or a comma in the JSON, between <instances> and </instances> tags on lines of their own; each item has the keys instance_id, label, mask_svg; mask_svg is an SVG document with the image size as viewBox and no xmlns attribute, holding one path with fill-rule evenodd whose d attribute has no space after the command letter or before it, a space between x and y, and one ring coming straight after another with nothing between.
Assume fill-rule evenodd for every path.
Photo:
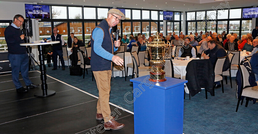
<instances>
[{"instance_id":1,"label":"upper window pane immediately right of the leftmost wall screen","mask_svg":"<svg viewBox=\"0 0 258 134\"><path fill-rule=\"evenodd\" d=\"M67 19L66 6L52 6L52 19Z\"/></svg>"}]
</instances>

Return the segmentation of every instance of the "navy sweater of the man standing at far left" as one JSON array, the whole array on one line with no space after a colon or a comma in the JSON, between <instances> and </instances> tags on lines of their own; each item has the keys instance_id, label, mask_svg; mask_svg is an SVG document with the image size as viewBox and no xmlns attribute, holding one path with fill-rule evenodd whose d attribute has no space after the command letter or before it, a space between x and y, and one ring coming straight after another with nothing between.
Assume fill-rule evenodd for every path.
<instances>
[{"instance_id":1,"label":"navy sweater of the man standing at far left","mask_svg":"<svg viewBox=\"0 0 258 134\"><path fill-rule=\"evenodd\" d=\"M9 25L5 29L5 39L8 47L9 54L26 54L26 46L20 46L21 43L25 43L24 39L21 39L22 31L20 28L14 28Z\"/></svg>"}]
</instances>

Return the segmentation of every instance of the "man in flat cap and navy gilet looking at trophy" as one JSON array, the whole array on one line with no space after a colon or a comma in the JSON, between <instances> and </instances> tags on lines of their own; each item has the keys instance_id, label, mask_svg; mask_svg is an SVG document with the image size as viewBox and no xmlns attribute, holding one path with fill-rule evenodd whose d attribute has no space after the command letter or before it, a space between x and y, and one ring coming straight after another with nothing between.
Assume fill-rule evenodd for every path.
<instances>
[{"instance_id":1,"label":"man in flat cap and navy gilet looking at trophy","mask_svg":"<svg viewBox=\"0 0 258 134\"><path fill-rule=\"evenodd\" d=\"M112 27L125 19L125 15L118 9L110 9L107 19L104 19L92 31L91 38L91 68L99 90L96 119L104 119L104 129L120 129L124 124L115 121L109 107L109 92L112 61L116 65L123 65L123 59L113 54L120 46L120 41L114 43Z\"/></svg>"}]
</instances>

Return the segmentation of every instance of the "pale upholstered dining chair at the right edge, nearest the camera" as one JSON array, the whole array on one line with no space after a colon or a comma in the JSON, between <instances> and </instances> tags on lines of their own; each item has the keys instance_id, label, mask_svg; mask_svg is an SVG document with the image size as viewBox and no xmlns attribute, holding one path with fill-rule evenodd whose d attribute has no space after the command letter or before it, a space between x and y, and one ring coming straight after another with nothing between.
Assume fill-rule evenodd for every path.
<instances>
[{"instance_id":1,"label":"pale upholstered dining chair at the right edge, nearest the camera","mask_svg":"<svg viewBox=\"0 0 258 134\"><path fill-rule=\"evenodd\" d=\"M237 105L236 105L236 112L239 107L240 100L242 99L241 105L243 104L244 97L246 97L245 107L248 106L249 98L258 99L258 91L252 90L252 86L249 83L249 72L247 68L244 66L244 63L241 62L238 64L241 74L241 88L240 88L240 95L238 97Z\"/></svg>"}]
</instances>

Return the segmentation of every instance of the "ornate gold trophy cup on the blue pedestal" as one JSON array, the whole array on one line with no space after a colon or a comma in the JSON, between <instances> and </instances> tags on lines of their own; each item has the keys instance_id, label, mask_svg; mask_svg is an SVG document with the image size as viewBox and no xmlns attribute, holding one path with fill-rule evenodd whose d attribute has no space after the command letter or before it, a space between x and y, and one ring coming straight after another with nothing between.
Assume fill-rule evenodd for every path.
<instances>
[{"instance_id":1,"label":"ornate gold trophy cup on the blue pedestal","mask_svg":"<svg viewBox=\"0 0 258 134\"><path fill-rule=\"evenodd\" d=\"M151 43L147 41L146 45L148 48L148 52L151 56L151 72L149 80L153 82L166 81L165 71L162 70L162 67L166 63L166 61L164 60L164 55L167 53L165 53L165 49L166 47L170 48L170 42L167 42L167 44L165 44L165 42L160 39L158 32L156 32L154 40Z\"/></svg>"}]
</instances>

